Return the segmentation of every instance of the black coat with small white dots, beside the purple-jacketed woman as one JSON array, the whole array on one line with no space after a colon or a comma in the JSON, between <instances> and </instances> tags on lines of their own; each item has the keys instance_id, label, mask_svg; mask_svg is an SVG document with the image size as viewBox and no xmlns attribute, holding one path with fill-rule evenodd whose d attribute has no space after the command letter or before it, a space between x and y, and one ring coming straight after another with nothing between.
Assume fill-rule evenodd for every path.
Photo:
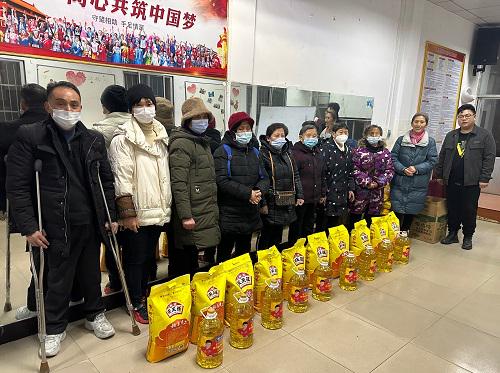
<instances>
[{"instance_id":1,"label":"black coat with small white dots, beside the purple-jacketed woman","mask_svg":"<svg viewBox=\"0 0 500 373\"><path fill-rule=\"evenodd\" d=\"M342 151L334 140L329 140L321 146L321 154L326 164L326 215L343 216L349 209L349 191L355 189L352 150L344 145Z\"/></svg>"}]
</instances>

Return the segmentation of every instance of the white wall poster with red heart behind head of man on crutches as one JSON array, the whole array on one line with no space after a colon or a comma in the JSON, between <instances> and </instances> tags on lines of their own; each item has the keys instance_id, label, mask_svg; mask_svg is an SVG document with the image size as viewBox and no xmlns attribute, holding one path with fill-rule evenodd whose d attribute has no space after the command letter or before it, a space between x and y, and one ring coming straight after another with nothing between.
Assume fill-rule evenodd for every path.
<instances>
[{"instance_id":1,"label":"white wall poster with red heart behind head of man on crutches","mask_svg":"<svg viewBox=\"0 0 500 373\"><path fill-rule=\"evenodd\" d=\"M83 124L91 128L92 124L104 118L100 97L104 88L115 84L114 75L52 66L38 66L38 84L41 86L46 87L47 84L60 80L66 80L78 87L82 95Z\"/></svg>"}]
</instances>

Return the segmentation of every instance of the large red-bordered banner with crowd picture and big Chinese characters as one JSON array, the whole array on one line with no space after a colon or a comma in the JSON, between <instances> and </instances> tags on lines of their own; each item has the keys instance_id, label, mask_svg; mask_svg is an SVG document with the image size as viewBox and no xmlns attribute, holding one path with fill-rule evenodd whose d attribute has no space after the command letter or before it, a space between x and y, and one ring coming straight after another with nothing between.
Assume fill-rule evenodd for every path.
<instances>
[{"instance_id":1,"label":"large red-bordered banner with crowd picture and big Chinese characters","mask_svg":"<svg viewBox=\"0 0 500 373\"><path fill-rule=\"evenodd\" d=\"M224 79L227 0L0 0L0 51Z\"/></svg>"}]
</instances>

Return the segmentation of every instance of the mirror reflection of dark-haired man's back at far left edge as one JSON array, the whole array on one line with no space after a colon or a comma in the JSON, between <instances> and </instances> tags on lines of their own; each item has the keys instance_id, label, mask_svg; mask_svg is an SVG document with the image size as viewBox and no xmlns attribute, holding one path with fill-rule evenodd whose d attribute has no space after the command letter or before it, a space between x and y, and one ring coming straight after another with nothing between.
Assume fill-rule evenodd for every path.
<instances>
[{"instance_id":1,"label":"mirror reflection of dark-haired man's back at far left edge","mask_svg":"<svg viewBox=\"0 0 500 373\"><path fill-rule=\"evenodd\" d=\"M4 213L6 208L5 192L5 162L4 158L9 147L16 139L16 133L23 124L31 124L47 119L44 105L47 101L47 90L38 84L26 84L20 92L21 116L11 122L0 123L0 212Z\"/></svg>"}]
</instances>

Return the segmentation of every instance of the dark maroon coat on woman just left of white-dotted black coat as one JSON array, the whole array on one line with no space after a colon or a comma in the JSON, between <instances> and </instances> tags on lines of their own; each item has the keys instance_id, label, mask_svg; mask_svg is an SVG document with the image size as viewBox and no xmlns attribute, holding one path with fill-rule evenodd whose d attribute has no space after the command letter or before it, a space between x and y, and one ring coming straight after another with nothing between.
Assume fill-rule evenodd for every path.
<instances>
[{"instance_id":1,"label":"dark maroon coat on woman just left of white-dotted black coat","mask_svg":"<svg viewBox=\"0 0 500 373\"><path fill-rule=\"evenodd\" d=\"M293 146L292 155L299 170L304 203L319 203L326 195L326 167L319 146L311 149L299 141Z\"/></svg>"}]
</instances>

